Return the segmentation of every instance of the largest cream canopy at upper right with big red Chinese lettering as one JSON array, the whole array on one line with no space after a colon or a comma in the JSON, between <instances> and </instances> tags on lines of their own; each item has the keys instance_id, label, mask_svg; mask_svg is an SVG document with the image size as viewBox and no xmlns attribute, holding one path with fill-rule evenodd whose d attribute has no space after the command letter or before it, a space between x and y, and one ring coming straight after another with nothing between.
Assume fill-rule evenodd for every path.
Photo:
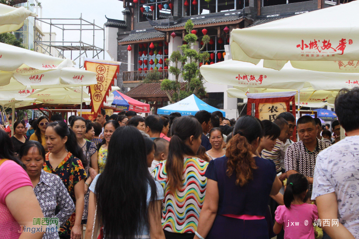
<instances>
[{"instance_id":1,"label":"largest cream canopy at upper right with big red Chinese lettering","mask_svg":"<svg viewBox=\"0 0 359 239\"><path fill-rule=\"evenodd\" d=\"M232 59L281 70L290 61L298 69L357 72L359 1L312 11L270 23L233 29ZM340 16L340 17L333 17Z\"/></svg>"}]
</instances>

